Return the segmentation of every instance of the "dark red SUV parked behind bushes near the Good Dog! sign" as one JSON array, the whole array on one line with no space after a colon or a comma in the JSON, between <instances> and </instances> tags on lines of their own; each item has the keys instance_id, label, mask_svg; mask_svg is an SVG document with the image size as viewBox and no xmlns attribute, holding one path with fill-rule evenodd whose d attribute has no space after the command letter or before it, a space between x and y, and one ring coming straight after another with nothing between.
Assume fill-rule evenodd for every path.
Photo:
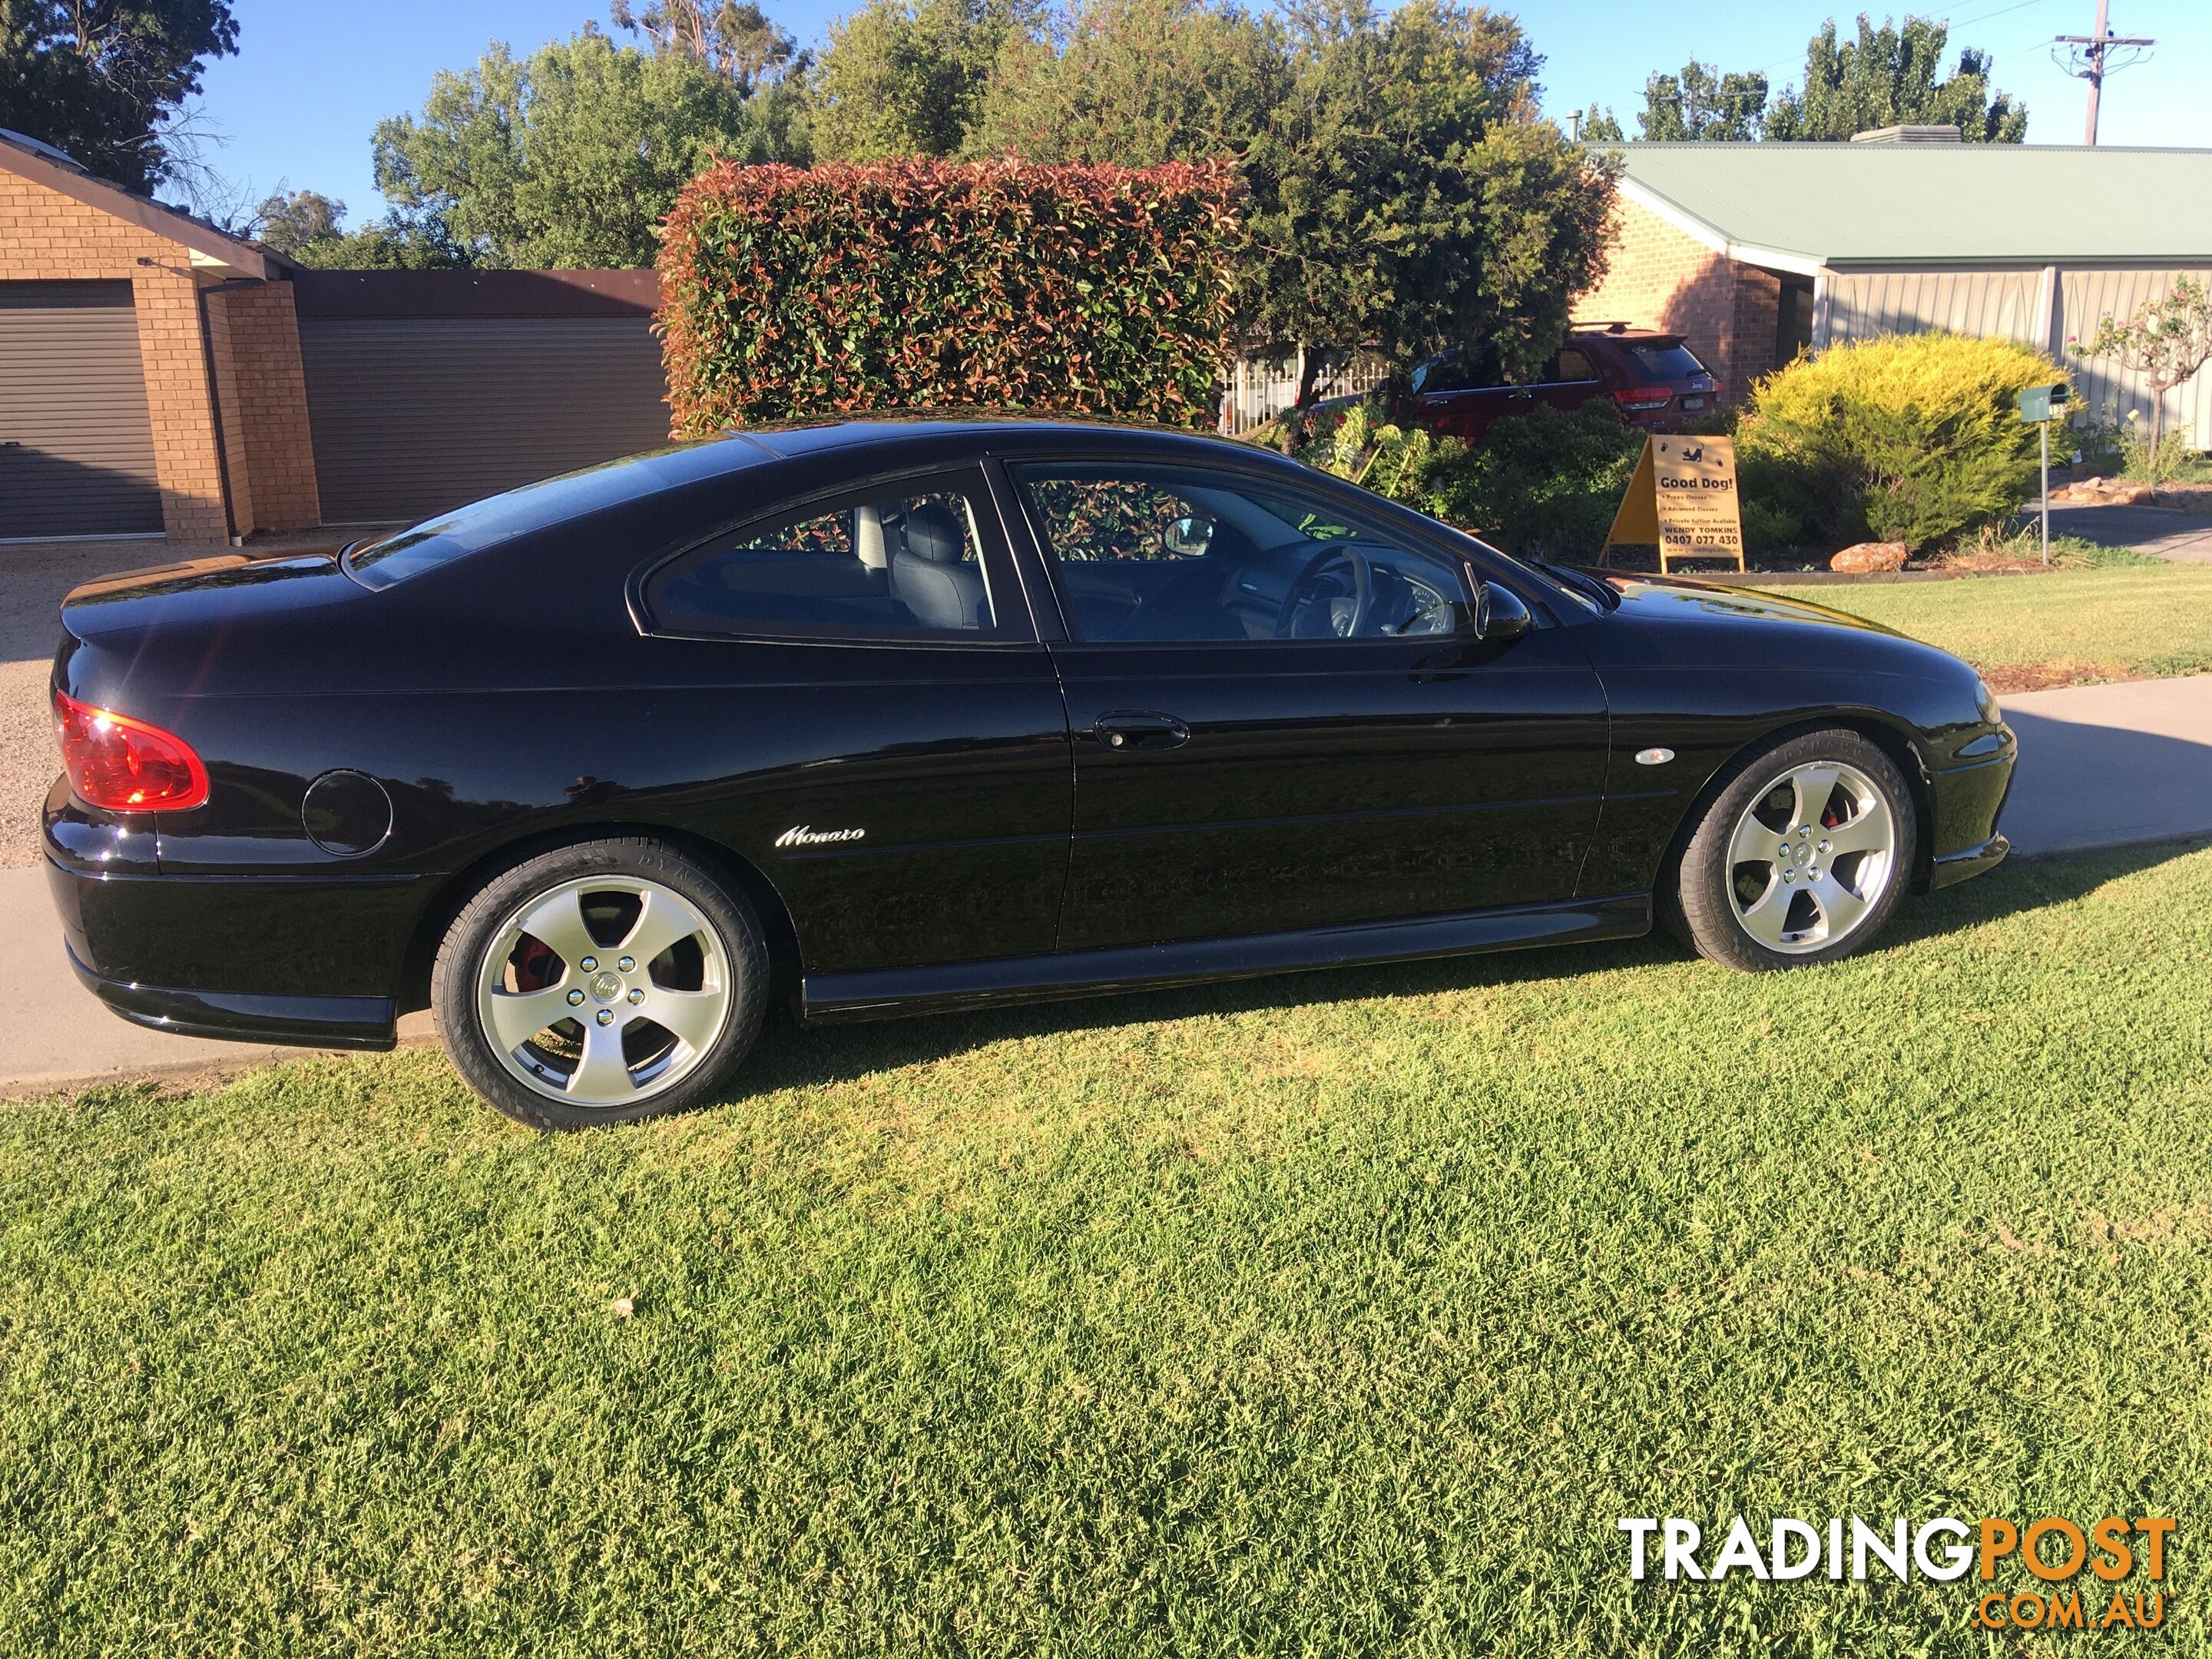
<instances>
[{"instance_id":1,"label":"dark red SUV parked behind bushes near the Good Dog! sign","mask_svg":"<svg viewBox=\"0 0 2212 1659\"><path fill-rule=\"evenodd\" d=\"M1681 343L1628 323L1577 323L1533 376L1511 378L1495 341L1460 345L1420 363L1391 403L1391 420L1480 442L1493 420L1528 414L1537 403L1579 409L1613 398L1621 420L1672 431L1710 414L1719 383Z\"/></svg>"}]
</instances>

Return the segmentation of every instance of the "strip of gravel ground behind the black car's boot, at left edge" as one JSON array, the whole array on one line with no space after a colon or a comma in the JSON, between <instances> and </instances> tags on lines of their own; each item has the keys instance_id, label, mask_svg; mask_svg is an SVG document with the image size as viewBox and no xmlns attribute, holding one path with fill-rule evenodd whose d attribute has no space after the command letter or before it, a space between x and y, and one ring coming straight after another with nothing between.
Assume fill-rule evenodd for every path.
<instances>
[{"instance_id":1,"label":"strip of gravel ground behind the black car's boot, at left edge","mask_svg":"<svg viewBox=\"0 0 2212 1659\"><path fill-rule=\"evenodd\" d=\"M246 553L334 546L334 535L296 535L257 542ZM175 564L221 544L186 542L20 542L0 546L0 869L29 869L40 860L38 814L46 790L62 774L46 712L46 679L62 637L55 613L80 582L148 564Z\"/></svg>"}]
</instances>

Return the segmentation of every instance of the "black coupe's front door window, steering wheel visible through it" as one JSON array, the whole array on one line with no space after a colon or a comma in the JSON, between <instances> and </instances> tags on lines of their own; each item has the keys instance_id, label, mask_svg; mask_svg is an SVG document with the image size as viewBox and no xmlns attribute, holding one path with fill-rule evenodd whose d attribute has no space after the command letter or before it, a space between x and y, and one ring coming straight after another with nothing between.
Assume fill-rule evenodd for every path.
<instances>
[{"instance_id":1,"label":"black coupe's front door window, steering wheel visible through it","mask_svg":"<svg viewBox=\"0 0 2212 1659\"><path fill-rule=\"evenodd\" d=\"M1029 465L1015 478L1082 641L1449 635L1455 562L1294 482L1199 467Z\"/></svg>"}]
</instances>

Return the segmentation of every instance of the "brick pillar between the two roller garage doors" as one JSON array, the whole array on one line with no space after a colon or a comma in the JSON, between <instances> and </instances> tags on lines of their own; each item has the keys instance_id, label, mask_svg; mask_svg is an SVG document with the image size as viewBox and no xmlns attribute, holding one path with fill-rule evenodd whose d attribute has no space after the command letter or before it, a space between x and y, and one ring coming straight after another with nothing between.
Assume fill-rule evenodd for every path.
<instances>
[{"instance_id":1,"label":"brick pillar between the two roller garage doors","mask_svg":"<svg viewBox=\"0 0 2212 1659\"><path fill-rule=\"evenodd\" d=\"M323 500L314 480L292 283L212 290L208 345L239 529L314 529L323 522Z\"/></svg>"}]
</instances>

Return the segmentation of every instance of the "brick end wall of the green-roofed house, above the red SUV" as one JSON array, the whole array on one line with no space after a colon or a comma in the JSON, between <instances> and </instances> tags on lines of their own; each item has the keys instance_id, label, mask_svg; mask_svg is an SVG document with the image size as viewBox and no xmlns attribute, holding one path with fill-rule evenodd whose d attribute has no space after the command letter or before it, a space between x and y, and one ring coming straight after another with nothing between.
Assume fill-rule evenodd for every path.
<instances>
[{"instance_id":1,"label":"brick end wall of the green-roofed house, above the red SUV","mask_svg":"<svg viewBox=\"0 0 2212 1659\"><path fill-rule=\"evenodd\" d=\"M1743 403L1774 367L1781 279L1741 265L1626 197L1613 206L1613 257L1604 281L1575 301L1577 319L1681 334L1721 380L1723 403Z\"/></svg>"}]
</instances>

